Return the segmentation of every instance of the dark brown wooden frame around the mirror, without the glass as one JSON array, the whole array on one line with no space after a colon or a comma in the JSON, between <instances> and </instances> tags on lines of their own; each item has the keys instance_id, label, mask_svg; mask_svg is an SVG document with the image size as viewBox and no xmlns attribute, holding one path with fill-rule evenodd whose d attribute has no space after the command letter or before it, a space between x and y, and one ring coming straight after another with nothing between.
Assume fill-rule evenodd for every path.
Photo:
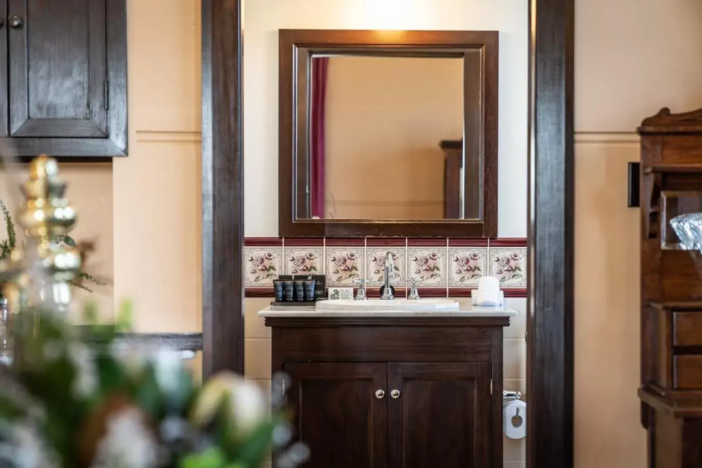
<instances>
[{"instance_id":1,"label":"dark brown wooden frame around the mirror, without the glass","mask_svg":"<svg viewBox=\"0 0 702 468\"><path fill-rule=\"evenodd\" d=\"M281 29L279 38L278 235L280 237L497 236L498 54L496 31L397 31ZM472 52L479 51L476 60ZM478 173L465 179L466 199L477 218L434 220L310 219L306 212L307 76L312 53L451 56L463 58L464 166ZM478 86L465 76L479 74ZM475 131L479 128L479 131ZM439 141L436 142L437 146ZM469 196L470 195L470 196ZM464 208L465 212L468 207Z\"/></svg>"}]
</instances>

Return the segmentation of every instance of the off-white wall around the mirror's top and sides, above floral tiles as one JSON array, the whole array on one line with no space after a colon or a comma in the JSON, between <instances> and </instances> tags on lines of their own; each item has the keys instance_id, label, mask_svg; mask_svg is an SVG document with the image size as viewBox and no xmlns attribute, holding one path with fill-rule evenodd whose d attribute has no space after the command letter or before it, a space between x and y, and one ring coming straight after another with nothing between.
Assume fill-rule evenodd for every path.
<instances>
[{"instance_id":1,"label":"off-white wall around the mirror's top and sides, above floral tiles","mask_svg":"<svg viewBox=\"0 0 702 468\"><path fill-rule=\"evenodd\" d=\"M278 37L292 29L500 31L500 236L527 235L527 2L521 0L253 0L244 29L246 236L278 234Z\"/></svg>"}]
</instances>

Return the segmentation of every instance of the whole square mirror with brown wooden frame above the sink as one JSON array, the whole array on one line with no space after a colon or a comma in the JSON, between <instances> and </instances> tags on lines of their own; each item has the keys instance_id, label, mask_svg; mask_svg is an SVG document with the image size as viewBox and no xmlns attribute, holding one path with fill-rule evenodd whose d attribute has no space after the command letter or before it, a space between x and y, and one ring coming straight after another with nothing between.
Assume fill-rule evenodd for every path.
<instances>
[{"instance_id":1,"label":"whole square mirror with brown wooden frame above the sink","mask_svg":"<svg viewBox=\"0 0 702 468\"><path fill-rule=\"evenodd\" d=\"M279 236L497 235L498 32L279 30Z\"/></svg>"}]
</instances>

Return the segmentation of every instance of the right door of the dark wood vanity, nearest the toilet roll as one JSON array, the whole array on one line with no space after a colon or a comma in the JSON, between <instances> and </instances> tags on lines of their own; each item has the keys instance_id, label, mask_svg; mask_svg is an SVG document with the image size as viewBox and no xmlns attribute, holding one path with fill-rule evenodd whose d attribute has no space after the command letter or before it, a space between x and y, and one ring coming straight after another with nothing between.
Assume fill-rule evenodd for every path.
<instances>
[{"instance_id":1,"label":"right door of the dark wood vanity, nearest the toilet roll","mask_svg":"<svg viewBox=\"0 0 702 468\"><path fill-rule=\"evenodd\" d=\"M490 363L388 364L388 467L491 466L490 378Z\"/></svg>"}]
</instances>

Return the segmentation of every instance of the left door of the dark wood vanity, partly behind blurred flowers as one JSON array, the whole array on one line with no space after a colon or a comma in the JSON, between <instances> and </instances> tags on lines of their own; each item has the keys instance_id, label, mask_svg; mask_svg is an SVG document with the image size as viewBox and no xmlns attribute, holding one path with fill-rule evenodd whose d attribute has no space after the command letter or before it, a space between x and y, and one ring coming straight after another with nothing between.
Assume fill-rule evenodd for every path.
<instances>
[{"instance_id":1,"label":"left door of the dark wood vanity, partly behind blurred flowers","mask_svg":"<svg viewBox=\"0 0 702 468\"><path fill-rule=\"evenodd\" d=\"M305 467L388 466L385 363L286 363L284 369L298 439L311 452Z\"/></svg>"}]
</instances>

